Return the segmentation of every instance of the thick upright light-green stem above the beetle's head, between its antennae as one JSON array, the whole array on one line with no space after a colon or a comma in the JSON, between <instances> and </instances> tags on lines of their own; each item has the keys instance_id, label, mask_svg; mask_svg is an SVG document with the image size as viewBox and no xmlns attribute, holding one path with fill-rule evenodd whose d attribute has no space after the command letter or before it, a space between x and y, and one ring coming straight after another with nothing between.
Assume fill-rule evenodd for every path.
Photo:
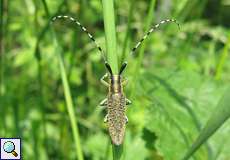
<instances>
[{"instance_id":1,"label":"thick upright light-green stem above the beetle's head, between its antennae","mask_svg":"<svg viewBox=\"0 0 230 160\"><path fill-rule=\"evenodd\" d=\"M116 30L115 30L113 3L114 3L113 0L102 0L107 60L112 68L113 73L117 74L118 57L117 57L117 48L116 48Z\"/></svg>"}]
</instances>

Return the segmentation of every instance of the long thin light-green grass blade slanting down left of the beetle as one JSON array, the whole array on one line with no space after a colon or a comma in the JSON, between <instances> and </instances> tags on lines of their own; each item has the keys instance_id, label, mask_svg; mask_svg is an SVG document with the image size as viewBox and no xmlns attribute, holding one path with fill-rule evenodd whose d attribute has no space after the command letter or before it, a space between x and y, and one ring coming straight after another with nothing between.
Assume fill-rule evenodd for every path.
<instances>
[{"instance_id":1,"label":"long thin light-green grass blade slanting down left of the beetle","mask_svg":"<svg viewBox=\"0 0 230 160\"><path fill-rule=\"evenodd\" d=\"M55 32L52 28L51 28L51 31L52 31L53 44L56 48L55 52L57 53L57 56L58 56L62 84L64 87L64 94L65 94L65 100L66 100L66 105L67 105L67 111L68 111L70 124L71 124L72 132L73 132L73 138L75 142L77 157L78 157L78 160L83 160L84 158L83 158L83 152L81 149L80 134L79 134L78 126L77 126L78 121L77 121L77 117L74 114L73 100L72 100L72 96L71 96L70 89L69 89L69 83L67 80L67 74L65 71L63 58L61 56L62 50L61 50L60 45L58 45L58 41L57 41Z\"/></svg>"}]
</instances>

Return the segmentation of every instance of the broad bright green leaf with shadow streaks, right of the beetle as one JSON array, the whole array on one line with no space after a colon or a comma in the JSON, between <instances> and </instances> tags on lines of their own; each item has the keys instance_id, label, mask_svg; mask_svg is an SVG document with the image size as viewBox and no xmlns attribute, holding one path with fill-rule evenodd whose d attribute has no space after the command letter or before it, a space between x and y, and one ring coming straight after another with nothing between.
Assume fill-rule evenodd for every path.
<instances>
[{"instance_id":1,"label":"broad bright green leaf with shadow streaks, right of the beetle","mask_svg":"<svg viewBox=\"0 0 230 160\"><path fill-rule=\"evenodd\" d=\"M183 156L181 151L189 148L226 86L194 71L176 71L173 74L166 72L155 69L155 74L161 76L144 74L141 86L138 87L138 96L146 104L145 127L156 134L158 153L165 160L171 160L180 159ZM148 105L146 99L151 104ZM218 148L221 148L220 142L228 136L228 128L226 126L219 132L221 139L215 137L206 144L198 152L196 159L214 156ZM154 143L153 140L154 137L149 139ZM226 155L226 151L221 156L224 154Z\"/></svg>"}]
</instances>

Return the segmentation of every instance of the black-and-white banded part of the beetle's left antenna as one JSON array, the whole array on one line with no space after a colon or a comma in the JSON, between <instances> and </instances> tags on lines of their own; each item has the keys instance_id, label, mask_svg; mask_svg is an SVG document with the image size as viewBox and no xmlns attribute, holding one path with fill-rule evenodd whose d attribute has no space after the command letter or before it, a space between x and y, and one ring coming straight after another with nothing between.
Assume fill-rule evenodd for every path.
<instances>
[{"instance_id":1,"label":"black-and-white banded part of the beetle's left antenna","mask_svg":"<svg viewBox=\"0 0 230 160\"><path fill-rule=\"evenodd\" d=\"M88 37L91 39L91 41L94 42L94 44L97 46L97 49L101 53L103 60L106 61L105 54L104 54L101 46L96 42L96 40L94 39L94 37L92 36L92 34L90 34L88 32L88 30L84 26L82 26L81 23L78 20L76 20L75 18L73 18L71 16L58 15L58 16L55 16L55 17L53 17L51 19L51 24L54 23L58 19L67 19L67 20L70 20L71 22L73 22L74 24L76 24L77 26L79 26L81 28L81 30L88 35Z\"/></svg>"}]
</instances>

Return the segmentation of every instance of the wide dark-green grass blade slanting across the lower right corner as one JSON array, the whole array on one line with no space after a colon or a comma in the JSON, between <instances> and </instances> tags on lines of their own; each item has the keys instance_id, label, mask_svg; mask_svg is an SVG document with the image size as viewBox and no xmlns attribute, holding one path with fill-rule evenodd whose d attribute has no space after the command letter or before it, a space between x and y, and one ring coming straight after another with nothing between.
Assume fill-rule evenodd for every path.
<instances>
[{"instance_id":1,"label":"wide dark-green grass blade slanting across the lower right corner","mask_svg":"<svg viewBox=\"0 0 230 160\"><path fill-rule=\"evenodd\" d=\"M216 109L213 111L210 119L205 127L201 130L198 138L185 154L183 160L189 159L202 144L204 144L210 136L212 136L218 128L230 117L230 87L226 90L223 97L219 101Z\"/></svg>"}]
</instances>

